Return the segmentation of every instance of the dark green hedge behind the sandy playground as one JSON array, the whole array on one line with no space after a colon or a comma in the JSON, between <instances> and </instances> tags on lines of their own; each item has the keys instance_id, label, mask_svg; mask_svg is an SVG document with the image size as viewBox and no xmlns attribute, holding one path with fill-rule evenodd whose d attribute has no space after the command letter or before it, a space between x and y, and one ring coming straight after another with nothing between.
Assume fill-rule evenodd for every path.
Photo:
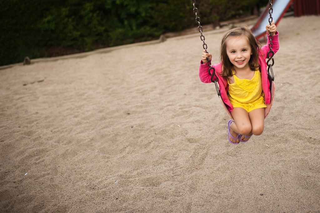
<instances>
[{"instance_id":1,"label":"dark green hedge behind the sandy playground","mask_svg":"<svg viewBox=\"0 0 320 213\"><path fill-rule=\"evenodd\" d=\"M250 14L267 0L198 0L201 24ZM197 26L190 0L1 0L0 66L158 39Z\"/></svg>"}]
</instances>

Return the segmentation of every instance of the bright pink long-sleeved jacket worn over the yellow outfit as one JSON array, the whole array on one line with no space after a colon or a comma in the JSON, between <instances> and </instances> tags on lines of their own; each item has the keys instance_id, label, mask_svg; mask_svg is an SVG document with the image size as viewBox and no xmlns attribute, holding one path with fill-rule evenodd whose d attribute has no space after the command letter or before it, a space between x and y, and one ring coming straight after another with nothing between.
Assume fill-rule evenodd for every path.
<instances>
[{"instance_id":1,"label":"bright pink long-sleeved jacket worn over the yellow outfit","mask_svg":"<svg viewBox=\"0 0 320 213\"><path fill-rule=\"evenodd\" d=\"M277 31L276 35L274 35L272 37L272 45L273 45L272 50L274 53L276 53L279 49L278 36L279 36L279 33ZM267 71L267 62L266 62L268 51L269 51L269 44L261 47L261 49L259 51L259 65L260 65L260 69L261 69L262 90L264 92L264 98L265 98L266 104L269 104L270 99L271 99L270 90L269 90L270 83L268 80L268 71ZM270 61L269 63L272 63L272 61ZM213 68L215 69L216 75L218 78L219 91L221 94L221 98L222 98L223 102L225 102L225 104L227 104L228 110L231 112L233 109L233 106L230 103L228 95L227 95L228 80L226 77L222 77L220 75L221 74L221 63L214 64ZM210 80L211 76L209 75L208 70L209 70L208 64L207 63L203 64L201 61L200 67L199 67L199 77L203 83L212 83ZM213 78L213 79L215 80L215 78Z\"/></svg>"}]
</instances>

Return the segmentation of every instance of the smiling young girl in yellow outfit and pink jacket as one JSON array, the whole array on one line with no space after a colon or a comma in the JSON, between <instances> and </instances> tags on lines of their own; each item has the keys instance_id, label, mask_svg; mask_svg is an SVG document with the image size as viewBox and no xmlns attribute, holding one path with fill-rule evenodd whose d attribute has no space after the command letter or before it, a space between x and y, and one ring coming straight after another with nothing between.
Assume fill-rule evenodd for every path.
<instances>
[{"instance_id":1,"label":"smiling young girl in yellow outfit and pink jacket","mask_svg":"<svg viewBox=\"0 0 320 213\"><path fill-rule=\"evenodd\" d=\"M272 50L276 53L279 41L274 22L268 24L266 30L272 33ZM234 119L228 121L230 143L246 142L252 134L263 132L265 107L271 99L266 63L268 51L269 44L261 47L247 26L231 29L222 37L220 63L213 67L221 98ZM207 57L211 61L212 55L204 51L199 77L202 82L211 83Z\"/></svg>"}]
</instances>

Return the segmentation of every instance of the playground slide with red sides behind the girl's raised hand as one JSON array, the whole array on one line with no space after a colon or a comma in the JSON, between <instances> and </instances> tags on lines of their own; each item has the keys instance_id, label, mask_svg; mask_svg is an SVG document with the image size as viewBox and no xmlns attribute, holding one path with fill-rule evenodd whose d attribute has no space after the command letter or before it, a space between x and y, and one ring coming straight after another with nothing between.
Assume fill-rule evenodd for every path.
<instances>
[{"instance_id":1,"label":"playground slide with red sides behind the girl's raised hand","mask_svg":"<svg viewBox=\"0 0 320 213\"><path fill-rule=\"evenodd\" d=\"M293 0L273 0L272 4L272 20L274 20L276 26L284 16L284 13L288 10ZM251 31L256 39L266 35L266 25L269 23L269 4L266 9L261 13L257 22L253 25Z\"/></svg>"}]
</instances>

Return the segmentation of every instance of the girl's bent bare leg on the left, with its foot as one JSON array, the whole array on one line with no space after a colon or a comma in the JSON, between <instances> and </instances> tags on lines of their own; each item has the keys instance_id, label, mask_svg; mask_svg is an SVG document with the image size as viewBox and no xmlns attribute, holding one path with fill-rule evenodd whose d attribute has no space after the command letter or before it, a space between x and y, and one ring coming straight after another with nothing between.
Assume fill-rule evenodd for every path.
<instances>
[{"instance_id":1,"label":"girl's bent bare leg on the left, with its foot","mask_svg":"<svg viewBox=\"0 0 320 213\"><path fill-rule=\"evenodd\" d=\"M231 115L235 121L230 124L230 134L233 137L236 137L237 134L247 135L251 132L252 127L249 118L249 113L245 109L241 107L234 107L231 112ZM234 140L231 137L229 138L232 143L239 143L239 139Z\"/></svg>"}]
</instances>

